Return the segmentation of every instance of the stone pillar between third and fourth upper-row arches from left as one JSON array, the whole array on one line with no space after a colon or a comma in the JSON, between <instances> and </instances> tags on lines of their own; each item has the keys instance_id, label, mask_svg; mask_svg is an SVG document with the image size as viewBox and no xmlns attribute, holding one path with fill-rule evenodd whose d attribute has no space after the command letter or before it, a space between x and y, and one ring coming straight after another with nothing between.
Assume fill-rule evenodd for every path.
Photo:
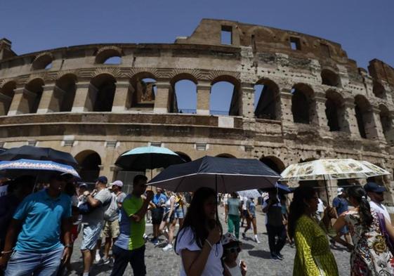
<instances>
[{"instance_id":1,"label":"stone pillar between third and fourth upper-row arches from left","mask_svg":"<svg viewBox=\"0 0 394 276\"><path fill-rule=\"evenodd\" d=\"M75 98L71 112L93 111L94 100L97 96L97 88L90 82L78 82L75 84Z\"/></svg>"}]
</instances>

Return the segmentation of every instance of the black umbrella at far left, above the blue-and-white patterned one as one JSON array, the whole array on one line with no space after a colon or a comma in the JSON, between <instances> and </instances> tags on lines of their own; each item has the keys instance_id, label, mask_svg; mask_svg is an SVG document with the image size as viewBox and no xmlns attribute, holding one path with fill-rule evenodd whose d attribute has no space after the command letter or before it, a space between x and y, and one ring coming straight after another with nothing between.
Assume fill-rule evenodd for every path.
<instances>
[{"instance_id":1,"label":"black umbrella at far left, above the blue-and-white patterned one","mask_svg":"<svg viewBox=\"0 0 394 276\"><path fill-rule=\"evenodd\" d=\"M70 153L53 150L51 147L22 145L22 147L12 147L0 153L0 161L15 161L19 159L47 160L78 168L77 160Z\"/></svg>"}]
</instances>

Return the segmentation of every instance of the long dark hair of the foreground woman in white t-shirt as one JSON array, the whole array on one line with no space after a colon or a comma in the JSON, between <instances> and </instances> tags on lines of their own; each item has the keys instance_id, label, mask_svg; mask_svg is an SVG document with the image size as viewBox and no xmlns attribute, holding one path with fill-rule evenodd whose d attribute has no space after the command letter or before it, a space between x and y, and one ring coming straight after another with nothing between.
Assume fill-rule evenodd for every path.
<instances>
[{"instance_id":1,"label":"long dark hair of the foreground woman in white t-shirt","mask_svg":"<svg viewBox=\"0 0 394 276\"><path fill-rule=\"evenodd\" d=\"M209 230L206 229L206 225L211 225L213 228L214 225L218 224L221 228L221 223L215 220L209 221L209 218L206 218L204 213L204 203L206 199L209 197L214 197L216 199L216 192L211 188L199 188L192 197L192 202L190 202L190 206L188 208L188 212L186 213L185 220L183 221L182 227L178 230L179 233L185 229L190 228L194 234L194 238L192 242L196 242L199 248L204 246L205 239L209 235ZM175 240L174 249L176 249Z\"/></svg>"}]
</instances>

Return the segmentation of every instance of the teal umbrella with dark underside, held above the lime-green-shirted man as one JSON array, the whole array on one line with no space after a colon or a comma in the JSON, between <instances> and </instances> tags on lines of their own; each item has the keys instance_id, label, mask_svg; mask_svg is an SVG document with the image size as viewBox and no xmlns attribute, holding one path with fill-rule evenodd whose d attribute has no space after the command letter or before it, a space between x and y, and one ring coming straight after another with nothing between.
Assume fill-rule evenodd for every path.
<instances>
[{"instance_id":1,"label":"teal umbrella with dark underside, held above the lime-green-shirted man","mask_svg":"<svg viewBox=\"0 0 394 276\"><path fill-rule=\"evenodd\" d=\"M185 161L166 147L136 147L119 156L115 164L129 171L145 171L145 169L166 168L169 165Z\"/></svg>"}]
</instances>

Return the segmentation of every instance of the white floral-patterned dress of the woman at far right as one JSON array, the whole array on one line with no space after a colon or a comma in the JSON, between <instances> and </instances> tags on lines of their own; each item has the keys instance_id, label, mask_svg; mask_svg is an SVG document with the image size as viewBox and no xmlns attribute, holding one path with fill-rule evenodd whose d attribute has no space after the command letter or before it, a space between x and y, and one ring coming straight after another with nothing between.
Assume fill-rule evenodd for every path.
<instances>
[{"instance_id":1,"label":"white floral-patterned dress of the woman at far right","mask_svg":"<svg viewBox=\"0 0 394 276\"><path fill-rule=\"evenodd\" d=\"M376 213L372 211L374 221L367 229L362 226L358 211L346 211L343 216L355 245L350 256L350 274L352 276L394 275L394 258L381 233Z\"/></svg>"}]
</instances>

